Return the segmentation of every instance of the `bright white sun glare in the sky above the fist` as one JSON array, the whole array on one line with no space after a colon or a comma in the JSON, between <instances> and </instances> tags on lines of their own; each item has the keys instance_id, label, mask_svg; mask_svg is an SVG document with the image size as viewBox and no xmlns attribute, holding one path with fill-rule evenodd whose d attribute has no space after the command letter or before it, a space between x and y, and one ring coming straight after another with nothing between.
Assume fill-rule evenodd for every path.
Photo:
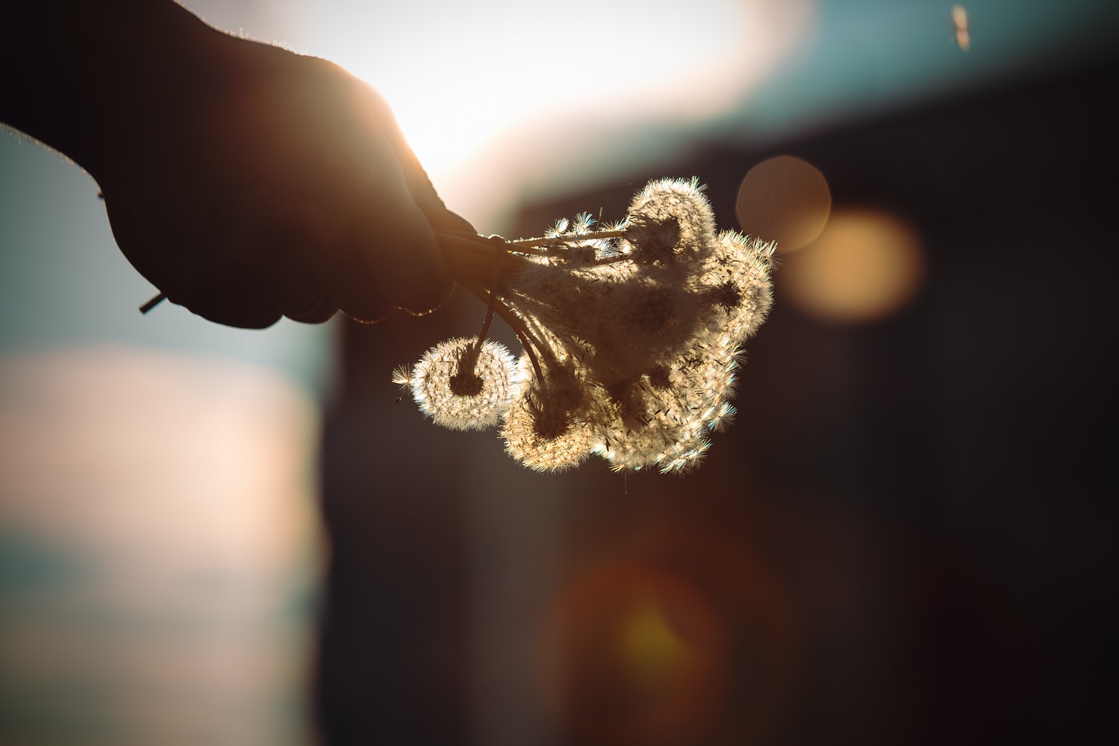
<instances>
[{"instance_id":1,"label":"bright white sun glare in the sky above the fist","mask_svg":"<svg viewBox=\"0 0 1119 746\"><path fill-rule=\"evenodd\" d=\"M581 168L572 143L722 113L809 17L808 0L321 6L305 50L380 91L444 200L482 213L510 177Z\"/></svg>"}]
</instances>

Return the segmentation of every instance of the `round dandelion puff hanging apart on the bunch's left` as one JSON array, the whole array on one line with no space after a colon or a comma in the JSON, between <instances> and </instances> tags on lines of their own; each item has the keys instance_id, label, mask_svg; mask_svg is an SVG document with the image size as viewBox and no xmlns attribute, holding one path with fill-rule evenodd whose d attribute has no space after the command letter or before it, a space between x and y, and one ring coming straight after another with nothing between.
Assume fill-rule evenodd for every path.
<instances>
[{"instance_id":1,"label":"round dandelion puff hanging apart on the bunch's left","mask_svg":"<svg viewBox=\"0 0 1119 746\"><path fill-rule=\"evenodd\" d=\"M449 339L412 368L412 398L436 425L485 429L497 425L517 393L519 374L499 342Z\"/></svg>"}]
</instances>

